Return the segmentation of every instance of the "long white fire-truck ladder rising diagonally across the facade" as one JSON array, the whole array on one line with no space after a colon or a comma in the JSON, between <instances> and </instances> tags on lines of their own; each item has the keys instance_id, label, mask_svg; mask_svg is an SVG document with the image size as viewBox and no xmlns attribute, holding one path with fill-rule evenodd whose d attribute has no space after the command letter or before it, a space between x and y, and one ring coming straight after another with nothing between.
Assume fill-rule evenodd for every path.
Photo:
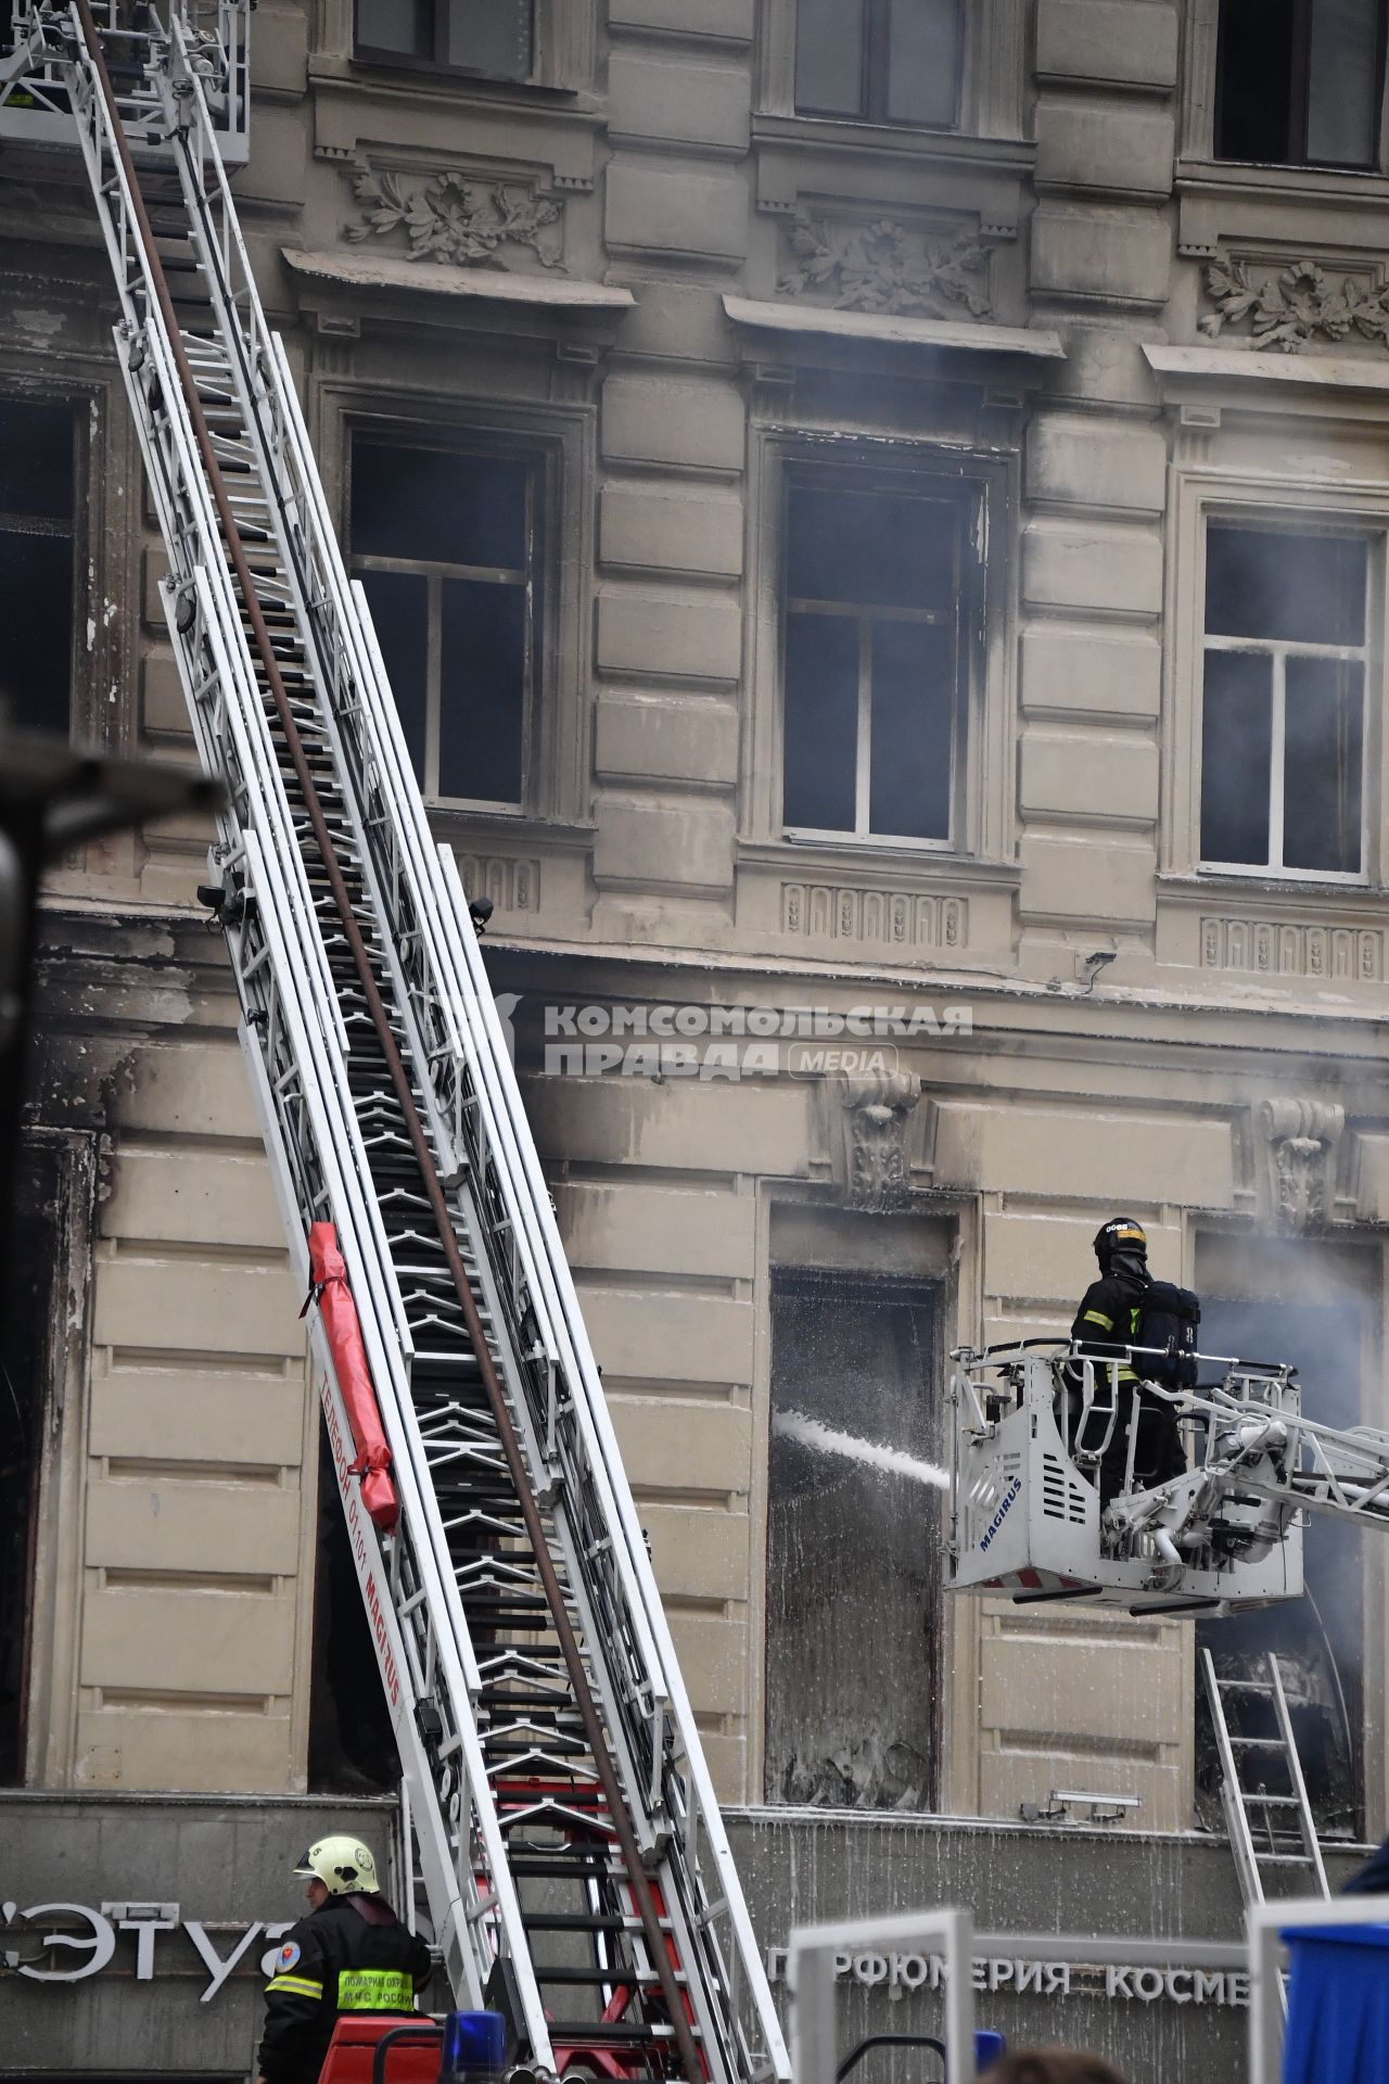
<instances>
[{"instance_id":1,"label":"long white fire-truck ladder rising diagonally across the facade","mask_svg":"<svg viewBox=\"0 0 1389 2084\"><path fill-rule=\"evenodd\" d=\"M308 1227L335 1225L394 1457L383 1540L310 1313L448 1980L504 2001L544 2067L785 2080L458 871L227 190L244 0L173 0L167 23L115 4L100 27L92 0L21 8L0 88L27 65L71 108L117 279L292 1259L308 1282Z\"/></svg>"}]
</instances>

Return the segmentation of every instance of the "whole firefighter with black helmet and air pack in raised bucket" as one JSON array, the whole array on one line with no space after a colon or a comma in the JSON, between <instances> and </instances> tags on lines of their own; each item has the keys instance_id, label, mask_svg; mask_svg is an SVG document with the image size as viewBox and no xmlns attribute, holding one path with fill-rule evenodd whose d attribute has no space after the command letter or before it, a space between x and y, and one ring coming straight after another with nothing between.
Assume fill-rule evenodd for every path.
<instances>
[{"instance_id":1,"label":"whole firefighter with black helmet and air pack in raised bucket","mask_svg":"<svg viewBox=\"0 0 1389 2084\"><path fill-rule=\"evenodd\" d=\"M1079 1448L1097 1446L1118 1403L1114 1428L1100 1459L1100 1503L1125 1488L1129 1423L1137 1394L1137 1442L1133 1484L1143 1490L1181 1475L1187 1457L1172 1405L1143 1384L1166 1390L1195 1384L1195 1325L1199 1305L1187 1288L1156 1282L1147 1271L1147 1236L1131 1215L1114 1215L1095 1232L1100 1280L1091 1282L1070 1325L1070 1344L1095 1363L1095 1403L1077 1434ZM1160 1355L1129 1348L1162 1348ZM1068 1382L1079 1390L1081 1369L1068 1365ZM1077 1403L1072 1394L1072 1405Z\"/></svg>"}]
</instances>

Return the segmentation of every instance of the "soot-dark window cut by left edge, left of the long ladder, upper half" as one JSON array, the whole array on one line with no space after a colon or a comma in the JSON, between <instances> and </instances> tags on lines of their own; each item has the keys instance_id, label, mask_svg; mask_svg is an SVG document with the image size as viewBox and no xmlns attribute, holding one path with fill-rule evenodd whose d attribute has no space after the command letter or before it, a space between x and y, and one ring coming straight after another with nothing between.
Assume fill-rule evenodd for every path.
<instances>
[{"instance_id":1,"label":"soot-dark window cut by left edge, left of the long ladder, upper half","mask_svg":"<svg viewBox=\"0 0 1389 2084\"><path fill-rule=\"evenodd\" d=\"M67 404L0 398L0 706L67 736L73 686L75 425Z\"/></svg>"}]
</instances>

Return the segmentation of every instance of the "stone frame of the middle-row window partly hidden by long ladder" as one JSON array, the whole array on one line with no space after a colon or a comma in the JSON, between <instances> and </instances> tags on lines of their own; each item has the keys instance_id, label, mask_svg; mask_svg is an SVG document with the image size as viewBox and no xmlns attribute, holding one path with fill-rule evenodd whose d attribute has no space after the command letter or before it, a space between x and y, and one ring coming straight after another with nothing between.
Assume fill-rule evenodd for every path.
<instances>
[{"instance_id":1,"label":"stone frame of the middle-row window partly hidden by long ladder","mask_svg":"<svg viewBox=\"0 0 1389 2084\"><path fill-rule=\"evenodd\" d=\"M591 404L498 404L483 398L441 398L431 392L387 392L381 386L325 379L319 392L321 456L337 465L337 515L344 550L350 531L352 431L494 438L533 448L544 475L544 617L531 717L531 771L519 809L462 807L427 800L439 832L477 834L479 825L516 832L525 825L575 825L587 815L591 688L583 631L591 621L591 486L596 477L596 408Z\"/></svg>"}]
</instances>

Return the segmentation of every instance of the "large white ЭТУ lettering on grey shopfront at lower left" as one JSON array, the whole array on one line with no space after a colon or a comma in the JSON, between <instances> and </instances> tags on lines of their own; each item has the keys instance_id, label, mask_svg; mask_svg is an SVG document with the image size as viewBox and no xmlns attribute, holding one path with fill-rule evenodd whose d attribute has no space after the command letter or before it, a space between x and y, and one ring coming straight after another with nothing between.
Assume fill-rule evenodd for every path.
<instances>
[{"instance_id":1,"label":"large white \u042d\u0422\u0423 lettering on grey shopfront at lower left","mask_svg":"<svg viewBox=\"0 0 1389 2084\"><path fill-rule=\"evenodd\" d=\"M117 1934L135 1936L135 1982L154 1982L154 1955L160 1955L165 1976L192 1969L187 1955L171 1959L177 1940L160 1944L160 1936L177 1932L206 1969L208 1982L200 2003L208 2005L227 1984L233 1969L250 1969L256 1940L279 1942L294 1919L279 1924L217 1924L212 1932L200 1917L181 1917L177 1903L102 1903L100 1911L85 1903L0 1903L0 1978L25 1976L29 1982L85 1982L110 1967ZM223 1953L223 1946L231 1946ZM258 1967L264 1978L275 1974L277 1944L267 1944ZM69 1959L77 1955L77 1959Z\"/></svg>"}]
</instances>

